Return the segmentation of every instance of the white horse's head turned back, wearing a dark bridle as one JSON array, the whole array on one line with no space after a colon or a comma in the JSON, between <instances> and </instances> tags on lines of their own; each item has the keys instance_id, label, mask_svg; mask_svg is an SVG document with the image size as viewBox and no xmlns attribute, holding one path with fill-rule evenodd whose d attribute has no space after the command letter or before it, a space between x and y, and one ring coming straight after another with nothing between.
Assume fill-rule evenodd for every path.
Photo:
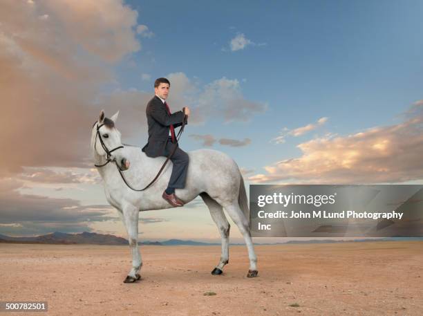
<instances>
[{"instance_id":1,"label":"white horse's head turned back, wearing a dark bridle","mask_svg":"<svg viewBox=\"0 0 423 316\"><path fill-rule=\"evenodd\" d=\"M123 145L120 140L120 131L115 127L118 115L119 111L111 118L106 118L104 111L100 112L100 117L91 131L91 149L96 161L99 158L105 163L115 161L121 170L126 170L129 168L129 160L122 156ZM97 161L96 164L98 163Z\"/></svg>"}]
</instances>

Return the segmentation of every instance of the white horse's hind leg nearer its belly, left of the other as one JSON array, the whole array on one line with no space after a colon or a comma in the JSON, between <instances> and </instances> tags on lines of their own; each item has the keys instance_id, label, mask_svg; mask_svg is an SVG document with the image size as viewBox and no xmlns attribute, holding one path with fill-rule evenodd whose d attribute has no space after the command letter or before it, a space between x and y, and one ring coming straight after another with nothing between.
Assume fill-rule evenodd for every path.
<instances>
[{"instance_id":1,"label":"white horse's hind leg nearer its belly, left of the other","mask_svg":"<svg viewBox=\"0 0 423 316\"><path fill-rule=\"evenodd\" d=\"M216 223L220 236L222 238L222 254L220 255L220 261L216 268L212 271L212 275L221 275L223 272L223 267L229 262L229 229L230 225L226 219L225 213L223 213L222 206L214 201L209 194L203 192L200 194L203 198L204 203L209 207L210 215L214 223Z\"/></svg>"}]
</instances>

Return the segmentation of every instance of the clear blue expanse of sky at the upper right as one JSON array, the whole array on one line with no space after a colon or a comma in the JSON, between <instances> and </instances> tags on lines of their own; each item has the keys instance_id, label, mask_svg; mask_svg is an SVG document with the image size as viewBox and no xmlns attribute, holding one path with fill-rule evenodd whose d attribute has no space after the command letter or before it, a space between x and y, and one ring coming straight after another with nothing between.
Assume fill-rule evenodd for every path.
<instances>
[{"instance_id":1,"label":"clear blue expanse of sky at the upper right","mask_svg":"<svg viewBox=\"0 0 423 316\"><path fill-rule=\"evenodd\" d=\"M269 105L254 122L214 121L189 126L186 134L218 124L233 138L251 138L253 150L266 143L267 150L290 158L299 154L294 147L299 139L267 144L283 127L294 129L326 116L325 131L346 135L393 124L421 98L421 1L128 4L154 36L131 57L133 69L119 69L125 87L151 91L155 77L176 72L204 83L227 77L241 82L245 98ZM231 51L229 42L238 34L255 45ZM140 80L140 73L151 74L151 80ZM185 147L196 148L184 138ZM271 154L248 156L238 158L252 167L274 161Z\"/></svg>"}]
</instances>

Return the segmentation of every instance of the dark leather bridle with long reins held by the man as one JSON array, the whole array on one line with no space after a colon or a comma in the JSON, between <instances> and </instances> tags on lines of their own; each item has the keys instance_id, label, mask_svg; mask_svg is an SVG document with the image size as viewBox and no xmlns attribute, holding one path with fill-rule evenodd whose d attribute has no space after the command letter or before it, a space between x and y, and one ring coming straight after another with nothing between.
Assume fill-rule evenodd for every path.
<instances>
[{"instance_id":1,"label":"dark leather bridle with long reins held by the man","mask_svg":"<svg viewBox=\"0 0 423 316\"><path fill-rule=\"evenodd\" d=\"M140 192L140 191L144 191L145 189L148 189L156 180L157 180L157 178L160 176L160 174L162 173L162 171L163 171L163 169L164 169L164 167L166 166L166 164L167 164L167 162L169 161L169 159L171 158L171 156L175 153L175 151L176 151L176 148L178 147L178 141L179 141L179 138L180 138L180 136L182 135L182 131L184 131L184 127L185 127L185 114L184 114L184 118L182 119L182 126L180 127L180 129L179 129L179 131L178 131L178 135L176 135L176 142L175 142L175 144L173 145L173 149L172 149L172 151L171 151L171 153L169 154L169 156L166 158L166 161L164 161L163 162L163 165L162 165L162 167L160 168L160 170L158 171L158 174L153 178L153 180L151 180L151 183L149 183L148 185L147 185L147 187L144 187L144 189L134 189L133 187L131 187L131 185L129 185L129 183L127 183L126 182L126 179L125 179L125 177L124 177L124 175L122 174L122 171L124 171L124 170L122 170L122 169L120 169L120 167L119 167L119 165L118 165L118 162L116 161L116 158L113 158L113 159L111 159L111 153L113 152L113 151L115 151L115 150L117 150L117 149L120 149L120 148L124 148L123 146L118 146L118 147L116 147L116 148L113 148L112 150L110 150L109 151L109 149L107 149L107 147L106 147L106 144L104 144L104 142L103 142L103 138L102 138L102 136L100 135L100 127L102 127L103 125L104 125L104 123L103 124L101 124L101 125L99 125L98 124L98 122L95 122L94 124L93 124L93 127L94 127L94 125L97 123L97 132L96 132L96 134L95 134L95 140L94 140L94 149L95 149L95 145L97 144L97 136L98 136L98 138L100 139L100 143L102 144L102 147L103 147L103 149L104 149L104 151L106 151L106 154L107 154L107 158L106 158L106 162L103 164L103 165L95 165L95 167L104 167L105 165L107 165L109 162L115 162L115 165L116 165L116 168L118 168L118 171L119 171L119 174L120 174L120 176L122 177L122 180L124 180L124 183L126 184L126 186L127 187L129 187L129 189L132 189L133 191L138 191L138 192ZM164 142L164 145L166 145L166 142Z\"/></svg>"}]
</instances>

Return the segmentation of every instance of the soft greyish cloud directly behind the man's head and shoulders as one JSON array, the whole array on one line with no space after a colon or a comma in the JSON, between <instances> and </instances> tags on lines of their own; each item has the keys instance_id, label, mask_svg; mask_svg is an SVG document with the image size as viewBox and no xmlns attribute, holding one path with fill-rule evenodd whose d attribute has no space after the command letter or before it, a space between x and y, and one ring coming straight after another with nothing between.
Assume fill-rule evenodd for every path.
<instances>
[{"instance_id":1,"label":"soft greyish cloud directly behind the man's head and shoulders","mask_svg":"<svg viewBox=\"0 0 423 316\"><path fill-rule=\"evenodd\" d=\"M171 90L167 103L172 112L189 106L191 115L189 124L201 124L209 119L220 118L224 122L247 122L254 115L264 113L267 104L246 100L238 80L226 77L202 85L191 80L185 73L170 73L166 76L171 82ZM116 90L110 94L97 97L97 104L106 109L106 114L119 113L117 124L122 136L131 136L134 131L139 135L147 133L145 106L153 97L153 91L146 93L131 89Z\"/></svg>"}]
</instances>

